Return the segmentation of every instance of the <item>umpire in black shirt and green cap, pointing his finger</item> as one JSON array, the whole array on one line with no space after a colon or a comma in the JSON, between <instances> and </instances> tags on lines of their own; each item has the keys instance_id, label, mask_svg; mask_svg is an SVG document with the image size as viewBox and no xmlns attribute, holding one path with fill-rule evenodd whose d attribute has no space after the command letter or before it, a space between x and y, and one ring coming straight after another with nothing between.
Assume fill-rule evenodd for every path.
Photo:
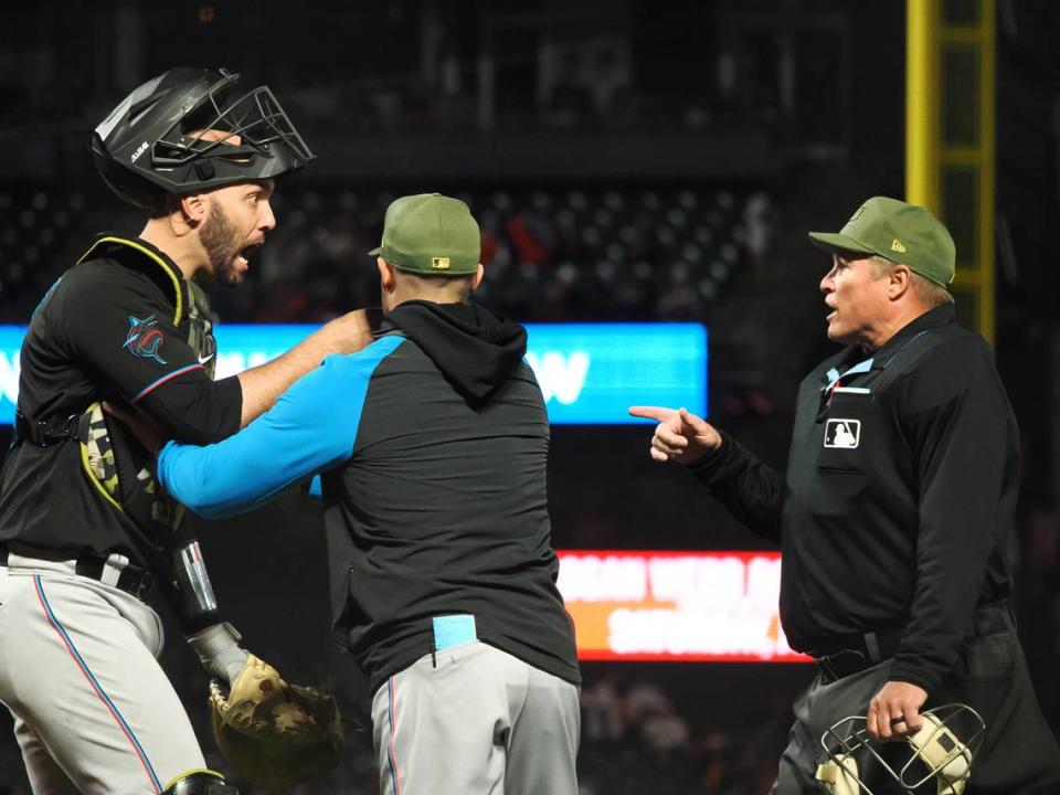
<instances>
[{"instance_id":1,"label":"umpire in black shirt and green cap, pointing his finger","mask_svg":"<svg viewBox=\"0 0 1060 795\"><path fill-rule=\"evenodd\" d=\"M831 254L820 290L846 347L799 388L786 478L685 410L630 410L659 421L654 459L686 464L783 547L784 630L818 672L773 793L816 792L822 733L841 718L867 711L873 739L897 740L954 701L987 725L969 793L1060 792L1008 604L1016 420L990 349L955 322L953 240L883 197L810 240Z\"/></svg>"}]
</instances>

